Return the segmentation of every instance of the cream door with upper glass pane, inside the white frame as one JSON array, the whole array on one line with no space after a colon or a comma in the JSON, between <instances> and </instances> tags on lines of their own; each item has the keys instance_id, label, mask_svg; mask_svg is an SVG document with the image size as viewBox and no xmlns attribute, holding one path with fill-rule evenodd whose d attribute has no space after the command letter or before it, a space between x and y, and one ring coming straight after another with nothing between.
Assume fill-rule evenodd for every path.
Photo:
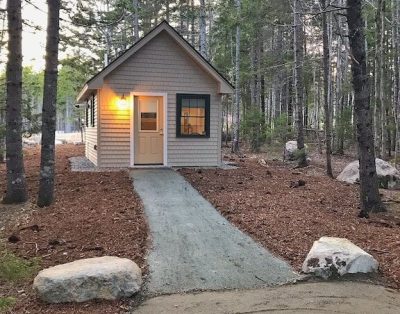
<instances>
[{"instance_id":1,"label":"cream door with upper glass pane, inside the white frame","mask_svg":"<svg viewBox=\"0 0 400 314\"><path fill-rule=\"evenodd\" d=\"M135 97L135 165L162 165L164 112L162 97Z\"/></svg>"}]
</instances>

